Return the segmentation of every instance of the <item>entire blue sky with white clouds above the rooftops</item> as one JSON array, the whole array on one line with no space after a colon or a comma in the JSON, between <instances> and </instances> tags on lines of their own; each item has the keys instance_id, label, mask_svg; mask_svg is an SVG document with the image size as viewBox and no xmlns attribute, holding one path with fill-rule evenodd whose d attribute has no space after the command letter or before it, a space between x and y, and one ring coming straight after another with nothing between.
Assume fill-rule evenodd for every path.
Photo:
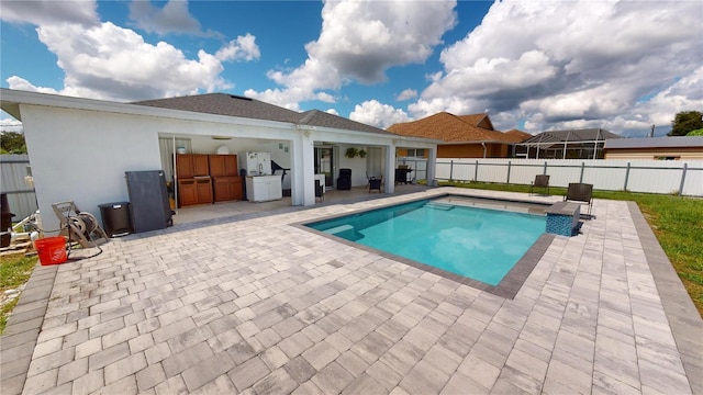
<instances>
[{"instance_id":1,"label":"entire blue sky with white clouds above the rooftops","mask_svg":"<svg viewBox=\"0 0 703 395\"><path fill-rule=\"evenodd\" d=\"M446 111L632 137L703 111L700 0L2 0L0 18L0 86L16 90L226 92L381 128Z\"/></svg>"}]
</instances>

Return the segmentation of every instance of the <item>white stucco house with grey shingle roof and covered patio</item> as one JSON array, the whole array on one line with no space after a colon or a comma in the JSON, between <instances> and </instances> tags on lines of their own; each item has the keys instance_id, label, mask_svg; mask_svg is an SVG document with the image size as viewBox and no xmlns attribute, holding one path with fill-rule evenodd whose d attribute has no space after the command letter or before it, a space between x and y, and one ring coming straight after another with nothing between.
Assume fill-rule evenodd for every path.
<instances>
[{"instance_id":1,"label":"white stucco house with grey shingle roof and covered patio","mask_svg":"<svg viewBox=\"0 0 703 395\"><path fill-rule=\"evenodd\" d=\"M427 149L426 179L434 179L436 140L231 94L120 103L1 89L0 104L23 124L44 229L59 225L52 203L74 201L100 218L100 204L129 201L125 171L164 170L172 179L175 147L270 153L290 169L292 205L315 204L315 173L323 170L333 174L327 188L342 168L352 169L353 187L365 185L367 173L393 180L398 147ZM366 157L347 158L349 147ZM384 193L393 192L386 182Z\"/></svg>"}]
</instances>

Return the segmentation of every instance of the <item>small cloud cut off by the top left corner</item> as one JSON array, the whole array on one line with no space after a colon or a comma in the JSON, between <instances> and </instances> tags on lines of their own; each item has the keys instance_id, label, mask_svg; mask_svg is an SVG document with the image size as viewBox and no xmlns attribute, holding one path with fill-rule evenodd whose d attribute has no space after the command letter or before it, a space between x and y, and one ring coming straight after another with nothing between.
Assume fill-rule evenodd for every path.
<instances>
[{"instance_id":1,"label":"small cloud cut off by the top left corner","mask_svg":"<svg viewBox=\"0 0 703 395\"><path fill-rule=\"evenodd\" d=\"M97 7L96 1L86 0L3 1L0 18L7 22L34 25L74 23L94 26L100 22Z\"/></svg>"}]
</instances>

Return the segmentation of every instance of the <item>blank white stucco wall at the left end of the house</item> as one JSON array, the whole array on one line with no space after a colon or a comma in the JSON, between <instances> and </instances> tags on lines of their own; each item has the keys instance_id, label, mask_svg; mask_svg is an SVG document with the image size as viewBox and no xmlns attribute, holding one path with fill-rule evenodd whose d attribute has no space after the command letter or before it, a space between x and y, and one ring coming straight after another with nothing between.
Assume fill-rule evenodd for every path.
<instances>
[{"instance_id":1,"label":"blank white stucco wall at the left end of the house","mask_svg":"<svg viewBox=\"0 0 703 395\"><path fill-rule=\"evenodd\" d=\"M161 168L156 128L138 117L22 105L42 228L58 229L53 203L74 201L100 218L99 204L129 201L125 171Z\"/></svg>"}]
</instances>

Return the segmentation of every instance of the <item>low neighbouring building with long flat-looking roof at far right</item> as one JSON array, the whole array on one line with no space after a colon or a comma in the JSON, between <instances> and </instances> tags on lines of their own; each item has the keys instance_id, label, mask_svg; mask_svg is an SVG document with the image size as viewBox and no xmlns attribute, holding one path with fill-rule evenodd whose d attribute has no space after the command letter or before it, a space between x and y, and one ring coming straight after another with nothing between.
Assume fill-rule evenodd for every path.
<instances>
[{"instance_id":1,"label":"low neighbouring building with long flat-looking roof at far right","mask_svg":"<svg viewBox=\"0 0 703 395\"><path fill-rule=\"evenodd\" d=\"M703 137L643 137L605 142L605 159L703 160Z\"/></svg>"}]
</instances>

